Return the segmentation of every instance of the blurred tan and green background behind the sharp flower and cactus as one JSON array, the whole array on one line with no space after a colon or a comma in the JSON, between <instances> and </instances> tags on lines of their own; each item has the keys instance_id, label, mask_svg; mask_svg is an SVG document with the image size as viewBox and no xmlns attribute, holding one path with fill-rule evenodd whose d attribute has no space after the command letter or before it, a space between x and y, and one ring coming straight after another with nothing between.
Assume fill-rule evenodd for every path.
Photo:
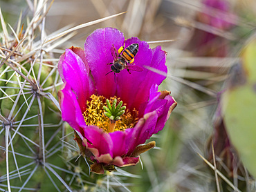
<instances>
[{"instance_id":1,"label":"blurred tan and green background behind the sharp flower and cactus","mask_svg":"<svg viewBox=\"0 0 256 192\"><path fill-rule=\"evenodd\" d=\"M40 2L0 0L0 7L6 23L17 27L21 15L26 28ZM168 77L160 89L170 90L178 102L163 131L151 138L156 141L156 148L141 155L141 164L122 169L124 172L118 172L112 179L113 175L91 174L89 177L93 178L83 183L84 188L77 184L73 191L256 191L250 170L242 164L240 152L232 146L226 132L219 103L221 91L228 88L230 69L243 62L240 52L255 33L256 1L55 0L52 5L51 1L43 2L47 8L51 6L45 19L46 36L125 12L75 30L72 37L55 46L53 65L57 65L65 48L83 47L93 30L118 28L125 39L138 37L148 41L151 48L161 45L167 51ZM40 37L40 28L37 30L35 41ZM72 142L72 135L68 138ZM72 161L75 164L75 159ZM216 179L216 170L206 162L215 164L223 177ZM80 166L88 172L84 162ZM2 166L0 176L4 174ZM84 175L82 180L87 180ZM106 188L107 181L110 188ZM5 186L6 181L2 180L1 189L7 190Z\"/></svg>"}]
</instances>

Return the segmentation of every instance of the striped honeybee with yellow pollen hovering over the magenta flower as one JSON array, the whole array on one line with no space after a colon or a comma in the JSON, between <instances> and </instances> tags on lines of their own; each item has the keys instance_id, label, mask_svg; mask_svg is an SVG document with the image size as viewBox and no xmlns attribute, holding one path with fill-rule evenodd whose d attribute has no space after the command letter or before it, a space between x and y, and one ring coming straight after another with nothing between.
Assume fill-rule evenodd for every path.
<instances>
[{"instance_id":1,"label":"striped honeybee with yellow pollen hovering over the magenta flower","mask_svg":"<svg viewBox=\"0 0 256 192\"><path fill-rule=\"evenodd\" d=\"M135 64L132 64L134 62L134 57L136 56L138 52L138 44L131 44L127 48L124 48L124 46L120 47L118 49L118 52L116 51L115 46L112 45L111 47L111 54L113 56L113 63L109 63L108 65L111 65L111 72L115 75L115 82L116 82L116 73L120 73L121 70L126 69L129 74L129 70L135 70L135 71L143 71L143 68L136 66ZM108 75L107 73L106 75Z\"/></svg>"}]
</instances>

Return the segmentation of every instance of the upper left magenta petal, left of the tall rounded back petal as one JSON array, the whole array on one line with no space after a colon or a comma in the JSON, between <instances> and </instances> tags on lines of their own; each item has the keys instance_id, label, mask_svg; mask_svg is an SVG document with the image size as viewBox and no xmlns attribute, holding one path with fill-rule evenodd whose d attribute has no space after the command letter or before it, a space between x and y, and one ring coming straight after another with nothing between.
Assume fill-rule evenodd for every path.
<instances>
[{"instance_id":1,"label":"upper left magenta petal, left of the tall rounded back petal","mask_svg":"<svg viewBox=\"0 0 256 192\"><path fill-rule=\"evenodd\" d=\"M89 87L89 75L84 62L72 50L66 49L64 57L62 56L59 61L58 69L63 75L63 81L75 92L80 108L84 112L86 100L93 92Z\"/></svg>"}]
</instances>

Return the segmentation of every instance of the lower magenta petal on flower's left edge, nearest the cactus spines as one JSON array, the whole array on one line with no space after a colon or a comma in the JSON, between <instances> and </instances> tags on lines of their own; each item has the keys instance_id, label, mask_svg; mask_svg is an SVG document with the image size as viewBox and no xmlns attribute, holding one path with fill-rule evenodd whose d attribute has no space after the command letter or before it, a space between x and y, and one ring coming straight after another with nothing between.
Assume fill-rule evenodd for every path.
<instances>
[{"instance_id":1,"label":"lower magenta petal on flower's left edge, nearest the cactus spines","mask_svg":"<svg viewBox=\"0 0 256 192\"><path fill-rule=\"evenodd\" d=\"M86 127L82 111L71 87L68 84L64 84L64 88L59 91L58 95L60 108L62 109L62 119L77 131L80 131L82 126Z\"/></svg>"}]
</instances>

